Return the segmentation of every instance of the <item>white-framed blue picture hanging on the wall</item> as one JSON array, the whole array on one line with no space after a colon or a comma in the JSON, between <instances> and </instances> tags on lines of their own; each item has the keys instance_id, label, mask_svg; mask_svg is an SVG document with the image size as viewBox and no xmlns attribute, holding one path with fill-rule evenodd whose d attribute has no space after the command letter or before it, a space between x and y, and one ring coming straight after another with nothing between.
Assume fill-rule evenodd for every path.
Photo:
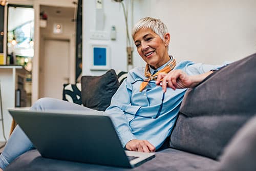
<instances>
[{"instance_id":1,"label":"white-framed blue picture hanging on the wall","mask_svg":"<svg viewBox=\"0 0 256 171\"><path fill-rule=\"evenodd\" d=\"M110 69L110 49L108 45L92 44L91 70Z\"/></svg>"}]
</instances>

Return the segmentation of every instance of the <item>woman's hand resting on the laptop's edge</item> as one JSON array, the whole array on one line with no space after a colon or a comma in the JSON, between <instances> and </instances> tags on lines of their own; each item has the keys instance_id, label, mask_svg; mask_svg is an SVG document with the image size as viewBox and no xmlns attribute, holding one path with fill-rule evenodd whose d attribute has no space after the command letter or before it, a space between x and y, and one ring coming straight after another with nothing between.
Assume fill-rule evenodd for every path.
<instances>
[{"instance_id":1,"label":"woman's hand resting on the laptop's edge","mask_svg":"<svg viewBox=\"0 0 256 171\"><path fill-rule=\"evenodd\" d=\"M125 145L125 148L130 150L130 151L136 151L136 152L155 152L156 147L152 145L150 142L147 140L131 140L127 142Z\"/></svg>"}]
</instances>

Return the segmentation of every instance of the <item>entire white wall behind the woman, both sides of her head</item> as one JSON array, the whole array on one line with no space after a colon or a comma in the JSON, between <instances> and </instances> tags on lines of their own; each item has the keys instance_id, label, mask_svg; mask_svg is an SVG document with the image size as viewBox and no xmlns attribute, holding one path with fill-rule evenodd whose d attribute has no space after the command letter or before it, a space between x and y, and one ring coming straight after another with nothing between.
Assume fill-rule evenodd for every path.
<instances>
[{"instance_id":1,"label":"entire white wall behind the woman, both sides of her head","mask_svg":"<svg viewBox=\"0 0 256 171\"><path fill-rule=\"evenodd\" d=\"M111 68L126 70L125 25L121 6L110 0L103 0L103 3L105 30L115 25L117 40L96 42L110 46ZM134 23L142 17L152 16L167 25L171 34L169 54L178 61L188 59L220 64L256 52L254 0L136 0L134 4ZM104 73L92 72L89 67L88 58L92 55L89 31L95 29L95 10L94 1L83 1L83 75ZM131 20L129 22L131 30ZM134 50L134 66L144 65Z\"/></svg>"}]
</instances>

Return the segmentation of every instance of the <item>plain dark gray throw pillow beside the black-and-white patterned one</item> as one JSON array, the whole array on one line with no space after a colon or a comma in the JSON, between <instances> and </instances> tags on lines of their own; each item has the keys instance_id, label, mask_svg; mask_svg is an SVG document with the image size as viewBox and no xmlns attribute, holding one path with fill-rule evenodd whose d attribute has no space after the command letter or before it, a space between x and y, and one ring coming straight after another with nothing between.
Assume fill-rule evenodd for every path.
<instances>
[{"instance_id":1,"label":"plain dark gray throw pillow beside the black-and-white patterned one","mask_svg":"<svg viewBox=\"0 0 256 171\"><path fill-rule=\"evenodd\" d=\"M82 104L88 108L105 111L119 87L118 77L112 69L101 76L82 76Z\"/></svg>"}]
</instances>

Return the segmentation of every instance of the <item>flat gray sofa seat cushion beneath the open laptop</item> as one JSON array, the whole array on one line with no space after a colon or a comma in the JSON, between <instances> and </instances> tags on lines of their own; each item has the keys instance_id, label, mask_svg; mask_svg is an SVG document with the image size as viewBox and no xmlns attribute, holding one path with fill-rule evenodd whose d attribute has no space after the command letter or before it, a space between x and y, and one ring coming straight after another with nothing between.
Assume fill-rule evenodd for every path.
<instances>
[{"instance_id":1,"label":"flat gray sofa seat cushion beneath the open laptop","mask_svg":"<svg viewBox=\"0 0 256 171\"><path fill-rule=\"evenodd\" d=\"M100 153L98 153L100 155ZM83 171L83 170L182 170L182 171L213 171L215 166L218 164L217 161L211 160L206 157L178 151L176 149L167 148L161 152L156 153L156 157L144 164L133 169L111 167L104 165L78 163L72 161L54 160L41 157L36 151L29 151L22 156L17 157L5 171L16 171L16 170L31 170L31 171Z\"/></svg>"}]
</instances>

